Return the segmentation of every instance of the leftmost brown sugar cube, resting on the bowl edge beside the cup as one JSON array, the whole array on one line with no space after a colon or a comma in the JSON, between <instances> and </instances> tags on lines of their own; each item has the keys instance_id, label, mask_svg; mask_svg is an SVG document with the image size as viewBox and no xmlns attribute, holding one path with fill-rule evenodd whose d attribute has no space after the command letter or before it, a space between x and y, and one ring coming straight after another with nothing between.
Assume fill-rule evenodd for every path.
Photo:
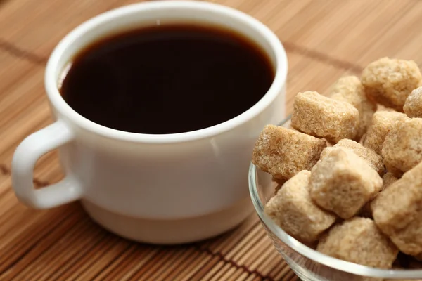
<instances>
[{"instance_id":1,"label":"leftmost brown sugar cube, resting on the bowl edge beside the cup","mask_svg":"<svg viewBox=\"0 0 422 281\"><path fill-rule=\"evenodd\" d=\"M252 163L274 178L288 179L310 170L326 142L281 126L267 125L255 143Z\"/></svg>"}]
</instances>

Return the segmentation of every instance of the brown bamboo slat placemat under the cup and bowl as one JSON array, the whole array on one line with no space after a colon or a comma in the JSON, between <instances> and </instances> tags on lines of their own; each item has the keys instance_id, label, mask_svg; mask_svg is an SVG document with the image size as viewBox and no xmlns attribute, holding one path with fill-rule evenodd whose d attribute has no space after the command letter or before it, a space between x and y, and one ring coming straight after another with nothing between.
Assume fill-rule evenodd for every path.
<instances>
[{"instance_id":1,"label":"brown bamboo slat placemat under the cup and bowl","mask_svg":"<svg viewBox=\"0 0 422 281\"><path fill-rule=\"evenodd\" d=\"M78 203L34 211L13 195L13 150L51 123L43 86L49 53L84 20L131 2L0 0L0 280L297 280L255 214L212 240L154 247L108 233ZM215 2L253 15L283 41L289 110L298 91L324 93L341 75L359 75L382 56L422 65L417 0ZM37 187L61 177L54 152L39 160Z\"/></svg>"}]
</instances>

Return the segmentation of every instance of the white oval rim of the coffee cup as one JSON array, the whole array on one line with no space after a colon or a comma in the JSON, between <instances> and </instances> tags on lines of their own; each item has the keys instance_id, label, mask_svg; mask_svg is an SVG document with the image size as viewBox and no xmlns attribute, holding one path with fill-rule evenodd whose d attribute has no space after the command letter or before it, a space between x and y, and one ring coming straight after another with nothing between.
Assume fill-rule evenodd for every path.
<instances>
[{"instance_id":1,"label":"white oval rim of the coffee cup","mask_svg":"<svg viewBox=\"0 0 422 281\"><path fill-rule=\"evenodd\" d=\"M210 126L205 129L199 129L196 131L189 131L184 133L170 133L170 134L146 134L146 133L131 133L126 131L120 131L117 129L111 129L100 124L96 124L91 120L79 115L75 110L65 102L63 97L58 91L58 86L56 81L57 68L62 58L63 54L68 49L68 46L72 42L79 39L79 37L84 36L89 30L93 30L98 25L102 25L105 22L113 20L115 18L122 18L125 15L132 13L148 13L151 11L157 11L160 9L190 9L196 11L207 11L212 13L219 13L225 15L229 18L234 18L238 20L243 25L248 26L249 28L257 30L262 34L262 37L267 41L269 46L271 46L271 51L275 55L275 65L276 71L274 75L274 81L272 82L269 90L264 96L252 107L250 107L245 112L241 113L232 119L229 119L225 122L217 124L215 126ZM236 128L245 122L248 122L250 119L259 115L265 108L267 108L279 95L279 91L286 83L288 70L287 55L286 51L279 41L276 34L272 32L269 27L262 24L259 20L252 18L252 16L247 15L241 11L238 11L234 8L229 8L227 6L222 6L219 4L212 4L207 2L197 2L197 1L153 1L153 2L142 2L138 4L130 4L127 6L122 6L120 8L115 8L113 10L101 13L96 15L94 18L83 22L81 25L76 27L70 33L68 33L54 48L51 56L46 65L45 72L45 85L46 93L49 96L52 106L57 110L60 115L68 117L71 120L72 124L75 124L79 128L85 129L87 131L92 131L101 136L107 138L114 138L124 141L132 142L142 142L142 143L180 143L188 141L196 141L198 139L208 138L211 136L216 136L220 133L230 131L231 129Z\"/></svg>"}]
</instances>

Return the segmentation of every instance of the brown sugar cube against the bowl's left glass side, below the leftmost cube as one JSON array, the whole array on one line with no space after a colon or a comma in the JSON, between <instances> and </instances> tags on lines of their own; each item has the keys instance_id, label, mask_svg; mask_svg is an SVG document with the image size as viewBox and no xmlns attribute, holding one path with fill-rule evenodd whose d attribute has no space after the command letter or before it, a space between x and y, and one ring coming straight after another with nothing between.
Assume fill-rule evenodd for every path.
<instances>
[{"instance_id":1,"label":"brown sugar cube against the bowl's left glass side, below the leftmost cube","mask_svg":"<svg viewBox=\"0 0 422 281\"><path fill-rule=\"evenodd\" d=\"M309 197L310 171L300 171L283 185L265 206L265 212L286 233L311 243L335 221L333 214L319 208Z\"/></svg>"}]
</instances>

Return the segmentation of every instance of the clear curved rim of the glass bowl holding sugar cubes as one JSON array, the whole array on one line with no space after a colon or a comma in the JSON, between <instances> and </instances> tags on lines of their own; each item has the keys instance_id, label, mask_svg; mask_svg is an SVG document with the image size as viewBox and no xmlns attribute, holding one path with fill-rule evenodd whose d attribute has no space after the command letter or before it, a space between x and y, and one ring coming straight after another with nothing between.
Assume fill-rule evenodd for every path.
<instances>
[{"instance_id":1,"label":"clear curved rim of the glass bowl holding sugar cubes","mask_svg":"<svg viewBox=\"0 0 422 281\"><path fill-rule=\"evenodd\" d=\"M279 126L283 126L286 122L290 121L291 115L284 119ZM276 235L283 243L285 243L291 249L297 251L302 256L311 259L316 263L321 263L324 266L329 268L335 268L336 270L344 271L347 273L352 273L354 275L363 275L366 277L378 277L378 278L388 278L388 279L406 279L406 278L421 278L422 270L420 269L381 269L373 268L369 266L362 266L357 263L352 263L349 261L343 261L340 259L327 256L322 254L319 251L316 251L312 248L307 247L305 244L302 244L292 236L288 235L282 228L276 225L274 221L265 214L264 204L260 199L259 192L257 190L257 166L252 162L249 165L249 192L252 199L252 204L257 211L258 216L262 223L269 228L269 230Z\"/></svg>"}]
</instances>

